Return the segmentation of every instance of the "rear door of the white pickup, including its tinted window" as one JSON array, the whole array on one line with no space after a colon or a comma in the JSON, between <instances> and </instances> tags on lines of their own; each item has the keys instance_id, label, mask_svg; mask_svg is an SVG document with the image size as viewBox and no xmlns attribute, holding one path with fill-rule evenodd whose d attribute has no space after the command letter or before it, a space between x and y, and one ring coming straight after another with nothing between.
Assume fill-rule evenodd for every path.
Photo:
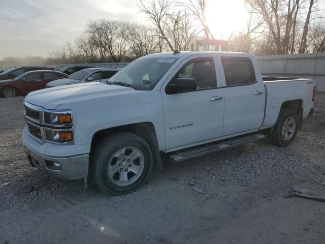
<instances>
[{"instance_id":1,"label":"rear door of the white pickup, including its tinted window","mask_svg":"<svg viewBox=\"0 0 325 244\"><path fill-rule=\"evenodd\" d=\"M225 97L223 135L258 130L264 118L265 88L252 59L220 55L218 61Z\"/></svg>"}]
</instances>

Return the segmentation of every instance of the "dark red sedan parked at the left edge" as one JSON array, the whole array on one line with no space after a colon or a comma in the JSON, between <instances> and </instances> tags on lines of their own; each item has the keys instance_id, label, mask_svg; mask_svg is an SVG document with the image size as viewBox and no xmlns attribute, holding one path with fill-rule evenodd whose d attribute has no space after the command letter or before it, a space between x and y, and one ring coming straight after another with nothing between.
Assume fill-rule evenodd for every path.
<instances>
[{"instance_id":1,"label":"dark red sedan parked at the left edge","mask_svg":"<svg viewBox=\"0 0 325 244\"><path fill-rule=\"evenodd\" d=\"M45 88L46 84L52 80L67 77L69 77L69 75L58 71L29 71L14 79L0 80L0 94L5 98L27 95L30 92L34 92L34 90Z\"/></svg>"}]
</instances>

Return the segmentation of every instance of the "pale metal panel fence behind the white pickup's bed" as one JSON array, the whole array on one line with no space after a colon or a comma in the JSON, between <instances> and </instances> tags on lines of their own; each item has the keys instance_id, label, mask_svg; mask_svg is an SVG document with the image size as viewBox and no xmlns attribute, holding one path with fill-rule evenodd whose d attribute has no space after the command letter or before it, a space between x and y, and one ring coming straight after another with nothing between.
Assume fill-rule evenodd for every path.
<instances>
[{"instance_id":1,"label":"pale metal panel fence behind the white pickup's bed","mask_svg":"<svg viewBox=\"0 0 325 244\"><path fill-rule=\"evenodd\" d=\"M282 76L315 79L317 90L325 92L325 53L302 53L257 56L264 76Z\"/></svg>"}]
</instances>

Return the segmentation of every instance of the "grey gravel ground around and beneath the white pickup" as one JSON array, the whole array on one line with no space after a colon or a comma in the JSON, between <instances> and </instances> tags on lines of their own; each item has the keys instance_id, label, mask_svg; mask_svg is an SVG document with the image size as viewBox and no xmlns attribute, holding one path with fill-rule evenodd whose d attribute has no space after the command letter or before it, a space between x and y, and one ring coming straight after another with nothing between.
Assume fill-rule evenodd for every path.
<instances>
[{"instance_id":1,"label":"grey gravel ground around and beneath the white pickup","mask_svg":"<svg viewBox=\"0 0 325 244\"><path fill-rule=\"evenodd\" d=\"M325 94L292 145L266 140L165 162L119 197L30 167L22 102L0 99L0 244L324 243L325 203L284 196L295 186L325 195Z\"/></svg>"}]
</instances>

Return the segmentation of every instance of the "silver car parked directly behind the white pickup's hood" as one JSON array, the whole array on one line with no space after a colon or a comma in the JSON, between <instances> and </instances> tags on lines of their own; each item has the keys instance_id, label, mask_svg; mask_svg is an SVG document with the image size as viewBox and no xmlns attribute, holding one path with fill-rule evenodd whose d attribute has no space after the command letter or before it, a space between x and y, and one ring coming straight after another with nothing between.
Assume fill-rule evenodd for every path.
<instances>
[{"instance_id":1,"label":"silver car parked directly behind the white pickup's hood","mask_svg":"<svg viewBox=\"0 0 325 244\"><path fill-rule=\"evenodd\" d=\"M46 88L71 85L85 82L105 82L107 79L115 75L120 69L109 68L88 68L73 73L69 78L59 79L47 83Z\"/></svg>"}]
</instances>

